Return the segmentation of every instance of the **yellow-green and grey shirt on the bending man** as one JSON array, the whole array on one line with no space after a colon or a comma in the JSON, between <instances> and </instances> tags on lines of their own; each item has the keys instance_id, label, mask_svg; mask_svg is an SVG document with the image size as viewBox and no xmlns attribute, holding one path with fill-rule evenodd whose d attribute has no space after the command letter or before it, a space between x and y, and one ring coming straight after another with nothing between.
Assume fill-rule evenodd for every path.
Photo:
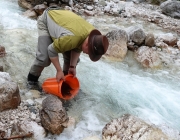
<instances>
[{"instance_id":1,"label":"yellow-green and grey shirt on the bending man","mask_svg":"<svg viewBox=\"0 0 180 140\"><path fill-rule=\"evenodd\" d=\"M47 27L53 39L53 47L58 53L69 50L82 51L82 43L95 29L82 17L67 10L49 10Z\"/></svg>"}]
</instances>

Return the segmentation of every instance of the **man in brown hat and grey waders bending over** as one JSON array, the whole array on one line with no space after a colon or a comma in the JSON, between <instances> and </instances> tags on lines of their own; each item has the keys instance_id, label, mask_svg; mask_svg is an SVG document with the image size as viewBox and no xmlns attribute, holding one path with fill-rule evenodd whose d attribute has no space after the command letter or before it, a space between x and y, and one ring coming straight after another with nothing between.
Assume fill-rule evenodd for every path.
<instances>
[{"instance_id":1,"label":"man in brown hat and grey waders bending over","mask_svg":"<svg viewBox=\"0 0 180 140\"><path fill-rule=\"evenodd\" d=\"M68 73L76 76L80 53L98 61L106 53L109 42L90 23L71 11L50 7L38 18L38 48L36 59L28 74L28 87L35 89L44 67L52 62L59 82ZM63 54L63 69L58 53Z\"/></svg>"}]
</instances>

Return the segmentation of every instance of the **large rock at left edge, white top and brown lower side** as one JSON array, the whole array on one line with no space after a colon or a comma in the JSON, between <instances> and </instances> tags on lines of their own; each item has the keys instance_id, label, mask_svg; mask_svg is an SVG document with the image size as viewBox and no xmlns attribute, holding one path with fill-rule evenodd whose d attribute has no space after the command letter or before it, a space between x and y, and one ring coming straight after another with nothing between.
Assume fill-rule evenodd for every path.
<instances>
[{"instance_id":1,"label":"large rock at left edge, white top and brown lower side","mask_svg":"<svg viewBox=\"0 0 180 140\"><path fill-rule=\"evenodd\" d=\"M21 102L19 87L6 72L0 72L0 111L17 108Z\"/></svg>"}]
</instances>

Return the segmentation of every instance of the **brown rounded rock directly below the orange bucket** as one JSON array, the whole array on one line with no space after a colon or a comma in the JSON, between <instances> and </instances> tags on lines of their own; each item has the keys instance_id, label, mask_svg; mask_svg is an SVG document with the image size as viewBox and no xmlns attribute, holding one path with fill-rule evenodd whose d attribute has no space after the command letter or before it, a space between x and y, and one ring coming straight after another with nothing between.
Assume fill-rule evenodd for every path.
<instances>
[{"instance_id":1,"label":"brown rounded rock directly below the orange bucket","mask_svg":"<svg viewBox=\"0 0 180 140\"><path fill-rule=\"evenodd\" d=\"M67 113L60 99L54 95L48 95L43 100L40 118L43 127L52 134L60 134L67 127Z\"/></svg>"}]
</instances>

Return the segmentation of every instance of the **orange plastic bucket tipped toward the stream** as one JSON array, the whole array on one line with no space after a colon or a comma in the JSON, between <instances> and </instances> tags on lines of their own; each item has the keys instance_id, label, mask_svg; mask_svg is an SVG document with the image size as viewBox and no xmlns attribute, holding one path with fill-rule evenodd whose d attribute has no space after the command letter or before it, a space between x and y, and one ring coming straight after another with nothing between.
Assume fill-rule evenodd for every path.
<instances>
[{"instance_id":1,"label":"orange plastic bucket tipped toward the stream","mask_svg":"<svg viewBox=\"0 0 180 140\"><path fill-rule=\"evenodd\" d=\"M48 78L43 84L42 88L45 92L54 94L61 99L69 100L74 98L79 91L79 81L71 74L65 76L65 81L60 80L58 83L56 78Z\"/></svg>"}]
</instances>

